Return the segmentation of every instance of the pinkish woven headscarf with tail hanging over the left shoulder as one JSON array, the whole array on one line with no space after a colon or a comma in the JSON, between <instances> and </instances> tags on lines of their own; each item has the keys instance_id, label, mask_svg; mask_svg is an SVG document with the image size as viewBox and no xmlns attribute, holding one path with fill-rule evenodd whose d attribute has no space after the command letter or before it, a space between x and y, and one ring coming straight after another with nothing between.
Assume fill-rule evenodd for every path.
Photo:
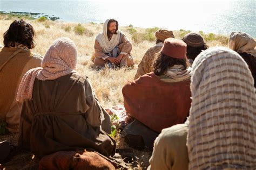
<instances>
[{"instance_id":1,"label":"pinkish woven headscarf with tail hanging over the left shoulder","mask_svg":"<svg viewBox=\"0 0 256 170\"><path fill-rule=\"evenodd\" d=\"M22 103L31 100L33 84L38 80L55 80L58 77L75 73L77 62L77 47L69 38L58 38L46 52L41 67L28 70L23 76L16 97Z\"/></svg>"}]
</instances>

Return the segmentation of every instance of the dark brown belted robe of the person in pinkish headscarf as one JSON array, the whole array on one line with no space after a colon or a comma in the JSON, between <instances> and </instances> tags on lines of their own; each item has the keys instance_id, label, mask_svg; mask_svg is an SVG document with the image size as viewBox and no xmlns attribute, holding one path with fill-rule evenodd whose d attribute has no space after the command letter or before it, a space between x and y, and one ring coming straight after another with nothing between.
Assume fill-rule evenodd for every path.
<instances>
[{"instance_id":1,"label":"dark brown belted robe of the person in pinkish headscarf","mask_svg":"<svg viewBox=\"0 0 256 170\"><path fill-rule=\"evenodd\" d=\"M100 128L105 121L107 125ZM102 130L109 131L110 126L110 116L87 77L71 73L56 80L36 79L32 100L22 107L19 146L38 158L83 148L112 155L116 142Z\"/></svg>"}]
</instances>

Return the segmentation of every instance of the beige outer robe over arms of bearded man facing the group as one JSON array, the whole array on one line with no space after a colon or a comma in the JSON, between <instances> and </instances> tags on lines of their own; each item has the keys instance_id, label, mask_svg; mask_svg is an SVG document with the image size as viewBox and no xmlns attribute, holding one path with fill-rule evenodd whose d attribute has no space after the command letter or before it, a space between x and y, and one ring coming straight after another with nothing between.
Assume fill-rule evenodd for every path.
<instances>
[{"instance_id":1,"label":"beige outer robe over arms of bearded man facing the group","mask_svg":"<svg viewBox=\"0 0 256 170\"><path fill-rule=\"evenodd\" d=\"M127 39L125 34L121 33L121 44L118 45L120 48L120 54L125 54L120 61L120 66L132 66L134 65L133 58L131 56L131 51L132 51L132 44ZM95 40L95 53L92 56L92 61L95 63L96 66L103 67L107 60L104 60L104 57L107 55L103 52L102 47L100 47L99 42Z\"/></svg>"}]
</instances>

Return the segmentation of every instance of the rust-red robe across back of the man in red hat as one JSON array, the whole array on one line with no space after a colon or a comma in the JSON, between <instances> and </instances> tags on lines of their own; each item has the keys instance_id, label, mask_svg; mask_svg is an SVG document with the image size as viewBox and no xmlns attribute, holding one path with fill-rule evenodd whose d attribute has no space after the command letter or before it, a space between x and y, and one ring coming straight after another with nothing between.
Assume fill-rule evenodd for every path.
<instances>
[{"instance_id":1,"label":"rust-red robe across back of the man in red hat","mask_svg":"<svg viewBox=\"0 0 256 170\"><path fill-rule=\"evenodd\" d=\"M127 82L122 92L126 111L159 133L184 123L190 111L190 80L164 82L151 72Z\"/></svg>"}]
</instances>

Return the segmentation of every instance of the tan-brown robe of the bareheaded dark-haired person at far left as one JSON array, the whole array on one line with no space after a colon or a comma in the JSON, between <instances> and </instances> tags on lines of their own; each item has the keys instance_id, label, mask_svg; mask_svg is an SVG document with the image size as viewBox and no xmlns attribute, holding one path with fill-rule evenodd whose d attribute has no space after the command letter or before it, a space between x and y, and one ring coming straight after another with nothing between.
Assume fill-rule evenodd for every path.
<instances>
[{"instance_id":1,"label":"tan-brown robe of the bareheaded dark-haired person at far left","mask_svg":"<svg viewBox=\"0 0 256 170\"><path fill-rule=\"evenodd\" d=\"M0 49L0 66L8 60L17 48ZM31 68L41 65L42 56L23 50L9 60L0 70L0 119L3 119L9 132L18 132L21 105L15 101L19 83Z\"/></svg>"}]
</instances>

